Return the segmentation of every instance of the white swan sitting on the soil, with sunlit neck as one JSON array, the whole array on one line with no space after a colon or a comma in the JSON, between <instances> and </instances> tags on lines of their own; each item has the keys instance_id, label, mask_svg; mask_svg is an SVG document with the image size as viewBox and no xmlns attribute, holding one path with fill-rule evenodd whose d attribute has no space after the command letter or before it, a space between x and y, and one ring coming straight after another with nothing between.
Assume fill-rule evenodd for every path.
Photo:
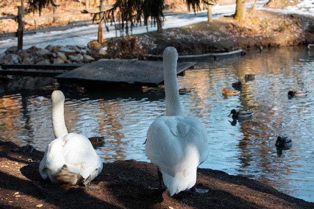
<instances>
[{"instance_id":1,"label":"white swan sitting on the soil, with sunlit neck","mask_svg":"<svg viewBox=\"0 0 314 209\"><path fill-rule=\"evenodd\" d=\"M83 135L68 133L64 120L64 94L51 94L52 127L56 139L46 148L39 172L54 184L89 185L102 170L102 162L91 142Z\"/></svg>"}]
</instances>

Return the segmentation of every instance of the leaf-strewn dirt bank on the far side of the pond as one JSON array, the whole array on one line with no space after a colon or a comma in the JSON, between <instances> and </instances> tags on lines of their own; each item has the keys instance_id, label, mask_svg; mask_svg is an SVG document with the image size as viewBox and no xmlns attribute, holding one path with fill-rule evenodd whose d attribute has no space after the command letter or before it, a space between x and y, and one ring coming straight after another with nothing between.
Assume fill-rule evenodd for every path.
<instances>
[{"instance_id":1,"label":"leaf-strewn dirt bank on the far side of the pond","mask_svg":"<svg viewBox=\"0 0 314 209\"><path fill-rule=\"evenodd\" d=\"M267 11L247 11L247 19L239 23L231 17L220 17L212 23L203 22L182 28L150 32L124 38L106 39L102 46L89 44L94 58L149 59L162 55L168 46L180 55L229 52L236 49L307 45L314 43L314 20L299 15L284 15ZM100 47L107 53L97 54Z\"/></svg>"}]
</instances>

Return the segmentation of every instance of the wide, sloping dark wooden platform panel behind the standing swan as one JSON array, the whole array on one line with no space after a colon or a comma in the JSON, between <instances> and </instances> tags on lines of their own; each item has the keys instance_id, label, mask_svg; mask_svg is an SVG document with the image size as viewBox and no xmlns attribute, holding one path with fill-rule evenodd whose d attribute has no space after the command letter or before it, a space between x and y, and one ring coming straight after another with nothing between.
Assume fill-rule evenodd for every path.
<instances>
[{"instance_id":1,"label":"wide, sloping dark wooden platform panel behind the standing swan","mask_svg":"<svg viewBox=\"0 0 314 209\"><path fill-rule=\"evenodd\" d=\"M177 74L183 74L195 62L179 62ZM55 76L59 83L84 86L149 86L164 82L163 62L132 60L105 60L86 64Z\"/></svg>"}]
</instances>

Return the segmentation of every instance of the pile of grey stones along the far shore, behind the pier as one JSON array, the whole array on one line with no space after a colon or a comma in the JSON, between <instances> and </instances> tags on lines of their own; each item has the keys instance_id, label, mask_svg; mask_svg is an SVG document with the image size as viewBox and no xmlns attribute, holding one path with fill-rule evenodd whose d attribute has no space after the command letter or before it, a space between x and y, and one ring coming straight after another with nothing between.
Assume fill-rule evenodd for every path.
<instances>
[{"instance_id":1,"label":"pile of grey stones along the far shore, behind the pier","mask_svg":"<svg viewBox=\"0 0 314 209\"><path fill-rule=\"evenodd\" d=\"M88 47L78 46L47 46L45 49L35 46L30 49L18 50L11 47L0 54L0 64L63 64L90 63L95 61L90 56Z\"/></svg>"}]
</instances>

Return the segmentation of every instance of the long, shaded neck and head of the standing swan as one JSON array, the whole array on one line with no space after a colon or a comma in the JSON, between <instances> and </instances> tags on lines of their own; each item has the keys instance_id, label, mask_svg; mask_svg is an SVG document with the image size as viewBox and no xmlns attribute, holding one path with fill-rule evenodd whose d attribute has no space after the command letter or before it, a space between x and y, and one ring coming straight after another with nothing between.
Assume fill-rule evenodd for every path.
<instances>
[{"instance_id":1,"label":"long, shaded neck and head of the standing swan","mask_svg":"<svg viewBox=\"0 0 314 209\"><path fill-rule=\"evenodd\" d=\"M183 116L177 81L178 52L174 47L167 47L163 55L166 115Z\"/></svg>"}]
</instances>

